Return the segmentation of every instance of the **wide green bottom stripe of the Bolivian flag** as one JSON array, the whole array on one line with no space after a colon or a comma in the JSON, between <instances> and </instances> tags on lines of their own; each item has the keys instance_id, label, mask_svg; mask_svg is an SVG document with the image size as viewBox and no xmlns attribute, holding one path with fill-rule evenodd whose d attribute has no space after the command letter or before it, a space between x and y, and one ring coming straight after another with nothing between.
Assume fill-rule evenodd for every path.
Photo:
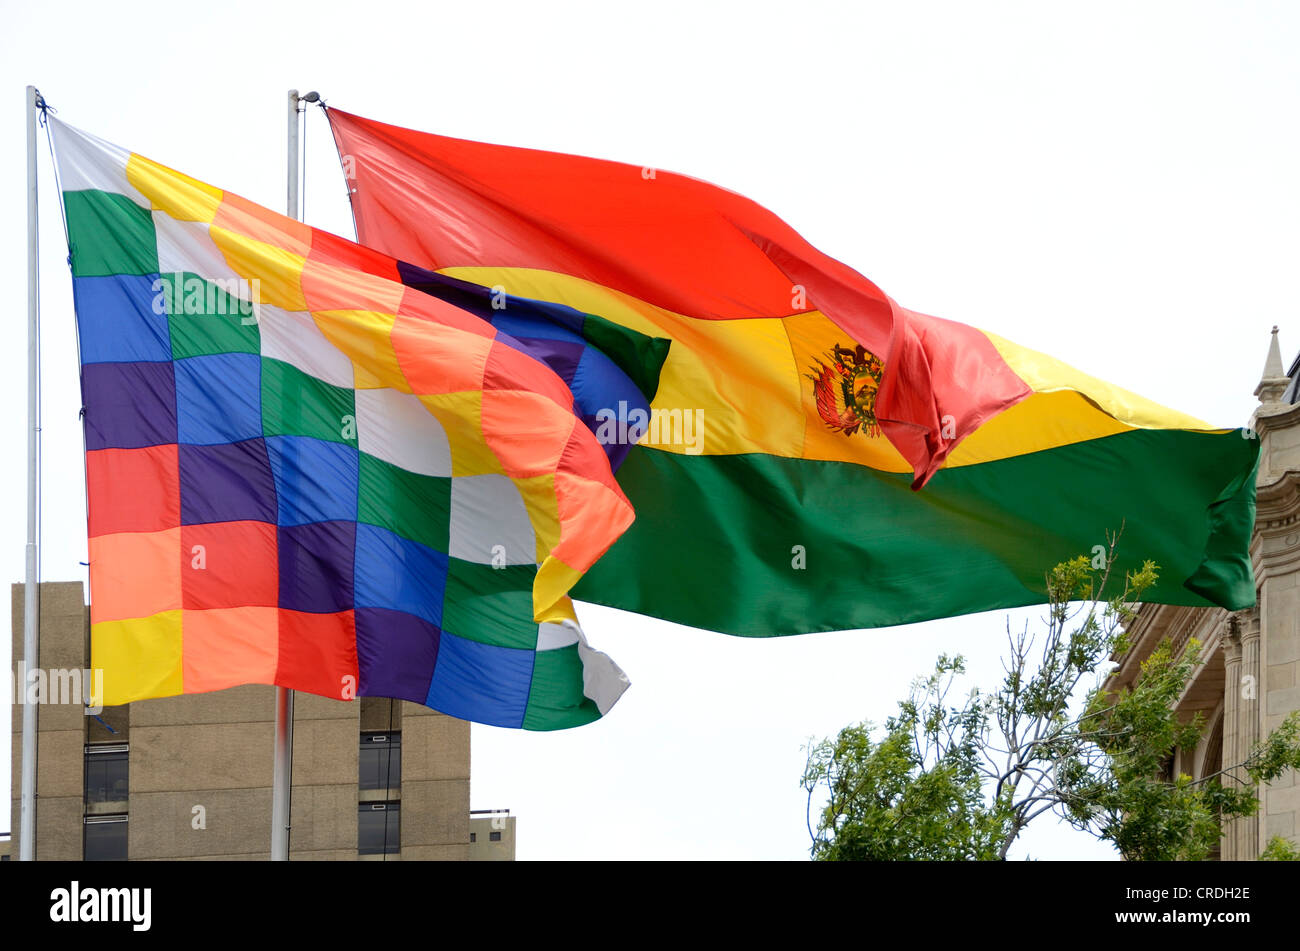
<instances>
[{"instance_id":1,"label":"wide green bottom stripe of the Bolivian flag","mask_svg":"<svg viewBox=\"0 0 1300 951\"><path fill-rule=\"evenodd\" d=\"M1043 603L1052 565L1123 526L1117 568L1161 566L1150 600L1238 609L1257 459L1239 430L1134 430L913 492L846 463L637 447L619 470L637 521L573 596L753 637L880 628Z\"/></svg>"}]
</instances>

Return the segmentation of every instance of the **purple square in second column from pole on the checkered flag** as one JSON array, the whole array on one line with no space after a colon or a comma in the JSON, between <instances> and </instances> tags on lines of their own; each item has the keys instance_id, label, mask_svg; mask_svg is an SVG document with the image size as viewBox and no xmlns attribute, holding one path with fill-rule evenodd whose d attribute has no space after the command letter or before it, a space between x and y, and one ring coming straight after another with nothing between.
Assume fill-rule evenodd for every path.
<instances>
[{"instance_id":1,"label":"purple square in second column from pole on the checkered flag","mask_svg":"<svg viewBox=\"0 0 1300 951\"><path fill-rule=\"evenodd\" d=\"M181 524L276 522L276 483L263 439L178 448Z\"/></svg>"}]
</instances>

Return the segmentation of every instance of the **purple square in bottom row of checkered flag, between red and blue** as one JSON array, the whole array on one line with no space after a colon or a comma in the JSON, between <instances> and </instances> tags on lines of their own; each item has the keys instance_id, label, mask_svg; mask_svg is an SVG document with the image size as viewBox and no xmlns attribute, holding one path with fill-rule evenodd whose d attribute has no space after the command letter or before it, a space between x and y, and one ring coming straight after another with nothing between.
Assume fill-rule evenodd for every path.
<instances>
[{"instance_id":1,"label":"purple square in bottom row of checkered flag, between red and blue","mask_svg":"<svg viewBox=\"0 0 1300 951\"><path fill-rule=\"evenodd\" d=\"M358 696L424 703L438 661L442 631L404 611L356 609Z\"/></svg>"}]
</instances>

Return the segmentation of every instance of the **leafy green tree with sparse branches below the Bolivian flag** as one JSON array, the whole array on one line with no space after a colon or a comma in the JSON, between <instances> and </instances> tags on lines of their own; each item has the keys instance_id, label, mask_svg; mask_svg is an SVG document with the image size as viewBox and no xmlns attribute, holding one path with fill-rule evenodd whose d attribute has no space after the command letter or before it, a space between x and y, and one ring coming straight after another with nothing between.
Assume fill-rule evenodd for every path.
<instances>
[{"instance_id":1,"label":"leafy green tree with sparse branches below the Bolivian flag","mask_svg":"<svg viewBox=\"0 0 1300 951\"><path fill-rule=\"evenodd\" d=\"M1096 561L1048 573L1041 648L1028 626L1013 635L1008 625L996 690L954 703L965 661L941 656L883 729L855 724L810 743L802 786L814 859L1005 859L1046 813L1124 859L1205 859L1222 820L1257 809L1256 783L1300 769L1296 712L1243 763L1201 780L1170 774L1174 750L1192 748L1204 729L1174 711L1201 646L1175 652L1166 640L1131 689L1106 689L1108 659L1127 650L1124 625L1157 578L1148 561L1108 596L1117 540ZM1268 856L1295 855L1287 848L1277 839Z\"/></svg>"}]
</instances>

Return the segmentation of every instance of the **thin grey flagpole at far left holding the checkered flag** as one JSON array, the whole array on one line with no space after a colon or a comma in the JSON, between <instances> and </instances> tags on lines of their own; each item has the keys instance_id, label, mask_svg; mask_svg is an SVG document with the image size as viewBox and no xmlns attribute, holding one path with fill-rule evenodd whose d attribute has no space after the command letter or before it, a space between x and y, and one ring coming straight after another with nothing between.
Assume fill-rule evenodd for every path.
<instances>
[{"instance_id":1,"label":"thin grey flagpole at far left holding the checkered flag","mask_svg":"<svg viewBox=\"0 0 1300 951\"><path fill-rule=\"evenodd\" d=\"M40 665L36 590L36 434L39 425L36 375L40 314L40 236L36 221L36 120L40 92L27 87L27 577L22 607L22 672L14 678L14 700L22 703L22 792L18 820L18 859L36 857L36 704L27 703L27 670ZM18 691L22 691L21 694ZM21 698L21 699L20 699ZM44 699L44 698L40 698Z\"/></svg>"}]
</instances>

